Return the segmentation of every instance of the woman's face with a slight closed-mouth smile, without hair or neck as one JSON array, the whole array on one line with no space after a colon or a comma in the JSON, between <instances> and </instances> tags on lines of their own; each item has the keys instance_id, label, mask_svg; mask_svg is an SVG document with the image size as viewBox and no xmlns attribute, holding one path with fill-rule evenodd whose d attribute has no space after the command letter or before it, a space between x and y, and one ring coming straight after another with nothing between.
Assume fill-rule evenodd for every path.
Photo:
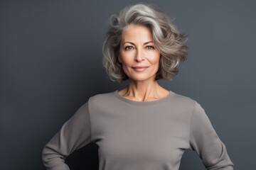
<instances>
[{"instance_id":1,"label":"woman's face with a slight closed-mouth smile, without hair or neck","mask_svg":"<svg viewBox=\"0 0 256 170\"><path fill-rule=\"evenodd\" d=\"M122 33L118 61L124 73L134 81L155 80L160 52L153 43L151 30L131 24Z\"/></svg>"}]
</instances>

